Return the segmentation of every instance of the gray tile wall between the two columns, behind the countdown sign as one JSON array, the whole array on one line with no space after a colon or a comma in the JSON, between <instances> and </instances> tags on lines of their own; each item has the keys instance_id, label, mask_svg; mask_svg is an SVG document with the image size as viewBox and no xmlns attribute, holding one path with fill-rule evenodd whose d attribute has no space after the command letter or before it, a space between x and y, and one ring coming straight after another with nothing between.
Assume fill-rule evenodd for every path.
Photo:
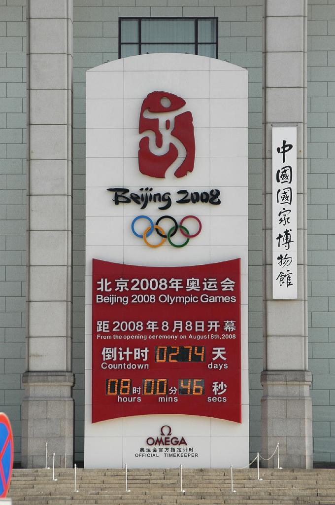
<instances>
[{"instance_id":1,"label":"gray tile wall between the two columns, behind the countdown sign","mask_svg":"<svg viewBox=\"0 0 335 505\"><path fill-rule=\"evenodd\" d=\"M83 459L85 71L118 58L119 16L218 16L218 57L249 70L251 452L260 450L262 371L262 0L74 0L73 370L75 458Z\"/></svg>"}]
</instances>

